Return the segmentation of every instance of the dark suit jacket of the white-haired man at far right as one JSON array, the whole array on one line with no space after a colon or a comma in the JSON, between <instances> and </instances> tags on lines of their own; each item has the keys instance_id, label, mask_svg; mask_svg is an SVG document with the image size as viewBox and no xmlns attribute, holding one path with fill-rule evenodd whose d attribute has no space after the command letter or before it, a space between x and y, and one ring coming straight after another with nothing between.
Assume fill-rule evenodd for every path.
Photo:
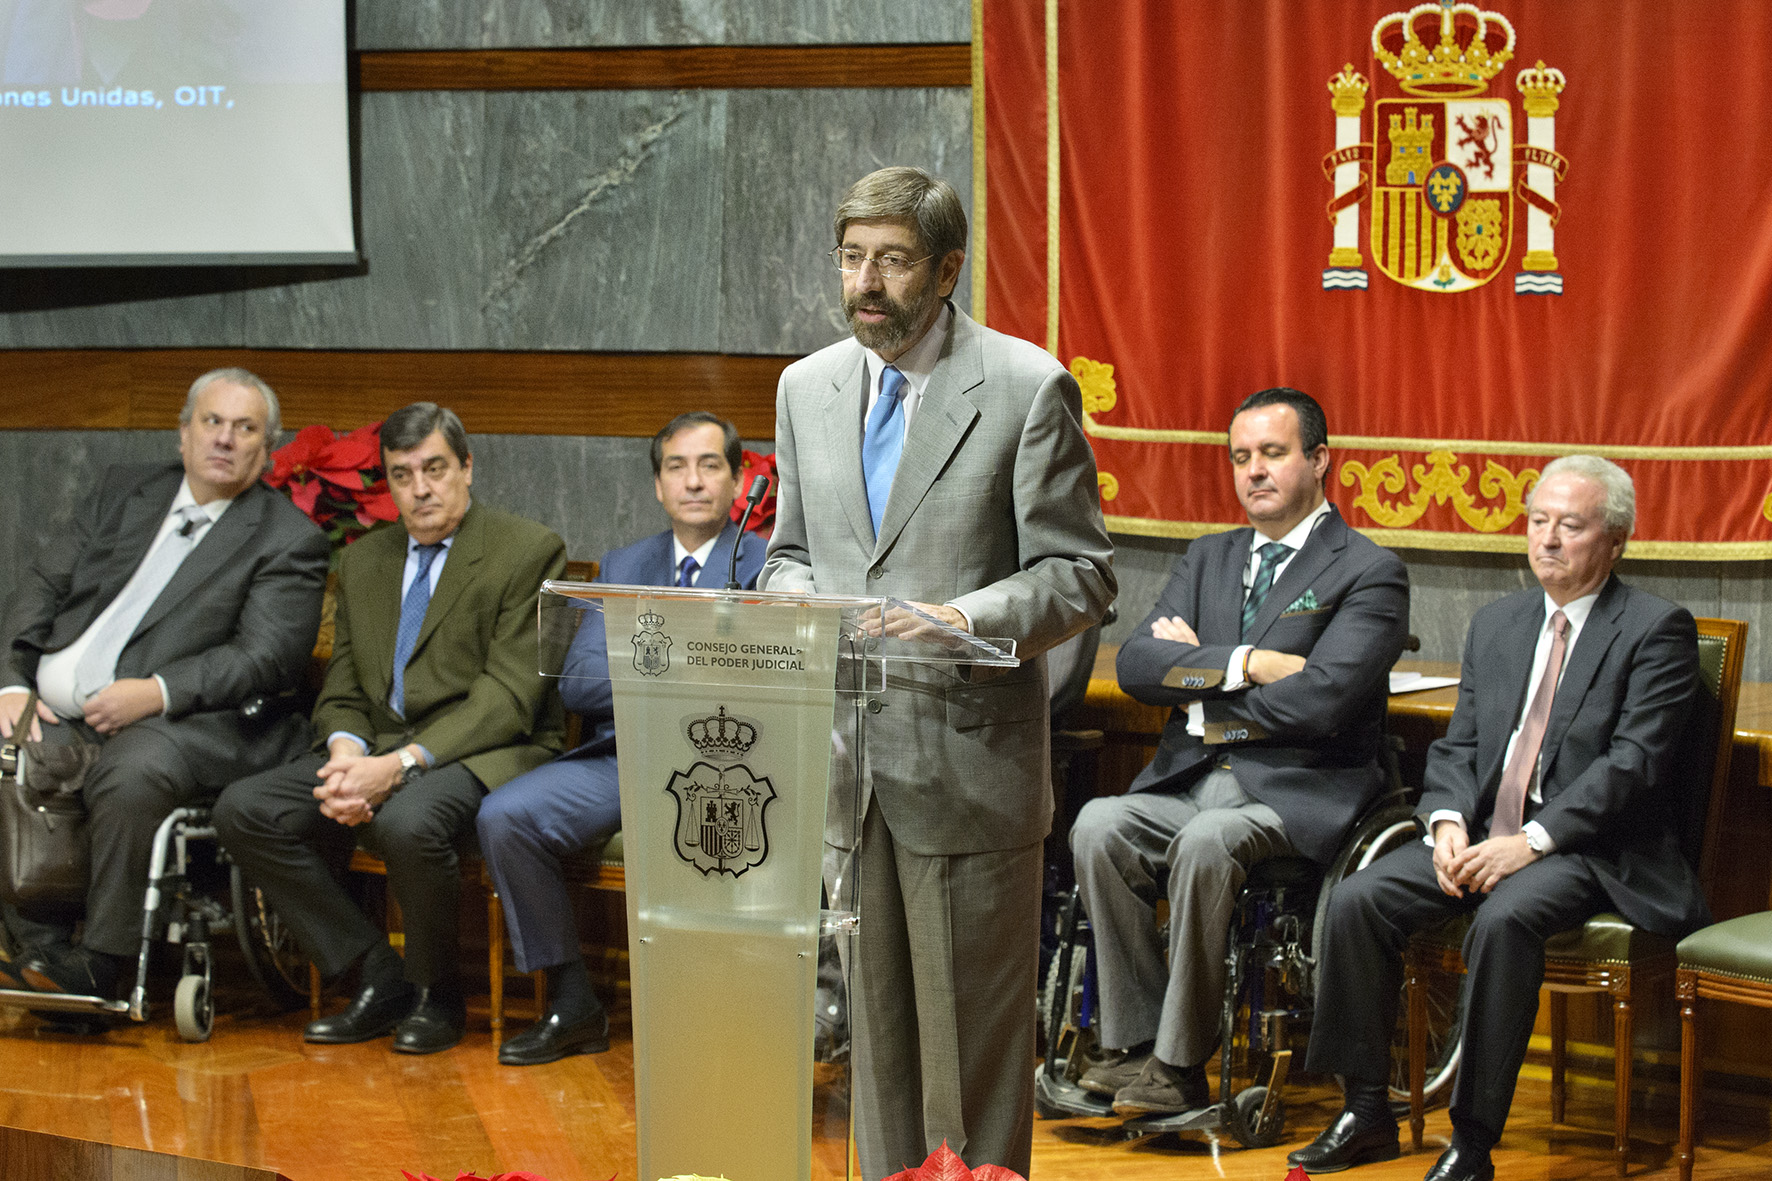
<instances>
[{"instance_id":1,"label":"dark suit jacket of the white-haired man at far right","mask_svg":"<svg viewBox=\"0 0 1772 1181\"><path fill-rule=\"evenodd\" d=\"M1428 748L1421 814L1458 812L1473 841L1488 832L1543 622L1538 587L1476 614L1451 725ZM1543 807L1527 803L1554 856L1586 860L1618 913L1667 936L1710 922L1673 796L1696 693L1690 612L1614 575L1565 658L1540 748Z\"/></svg>"}]
</instances>

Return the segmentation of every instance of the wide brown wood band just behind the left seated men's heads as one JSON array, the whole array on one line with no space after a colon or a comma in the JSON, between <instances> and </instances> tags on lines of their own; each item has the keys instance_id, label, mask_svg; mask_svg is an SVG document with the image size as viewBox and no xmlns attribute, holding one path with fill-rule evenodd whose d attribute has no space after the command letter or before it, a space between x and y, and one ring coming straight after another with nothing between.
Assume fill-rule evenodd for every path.
<instances>
[{"instance_id":1,"label":"wide brown wood band just behind the left seated men's heads","mask_svg":"<svg viewBox=\"0 0 1772 1181\"><path fill-rule=\"evenodd\" d=\"M482 434L650 438L684 410L774 436L776 378L792 356L718 353L346 353L307 349L0 351L0 429L170 429L197 374L245 365L271 383L284 426L346 431L434 401Z\"/></svg>"}]
</instances>

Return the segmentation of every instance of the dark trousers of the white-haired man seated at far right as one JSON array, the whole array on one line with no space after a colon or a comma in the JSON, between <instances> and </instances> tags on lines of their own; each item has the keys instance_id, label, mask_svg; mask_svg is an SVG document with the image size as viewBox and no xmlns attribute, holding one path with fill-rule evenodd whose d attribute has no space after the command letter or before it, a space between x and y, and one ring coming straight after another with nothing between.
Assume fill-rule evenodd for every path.
<instances>
[{"instance_id":1,"label":"dark trousers of the white-haired man seated at far right","mask_svg":"<svg viewBox=\"0 0 1772 1181\"><path fill-rule=\"evenodd\" d=\"M1389 1078L1403 945L1414 931L1473 911L1451 1122L1501 1138L1538 1016L1545 940L1605 906L1605 890L1581 856L1552 853L1490 894L1451 897L1434 878L1426 844L1387 853L1338 885L1329 903L1308 1069L1364 1082Z\"/></svg>"}]
</instances>

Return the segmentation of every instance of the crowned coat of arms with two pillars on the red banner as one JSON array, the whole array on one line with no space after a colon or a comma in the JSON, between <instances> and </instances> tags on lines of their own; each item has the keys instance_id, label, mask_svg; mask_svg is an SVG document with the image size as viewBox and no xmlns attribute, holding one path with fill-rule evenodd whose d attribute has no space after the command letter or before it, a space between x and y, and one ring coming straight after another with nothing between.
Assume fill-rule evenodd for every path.
<instances>
[{"instance_id":1,"label":"crowned coat of arms with two pillars on the red banner","mask_svg":"<svg viewBox=\"0 0 1772 1181\"><path fill-rule=\"evenodd\" d=\"M1336 135L1324 176L1334 186L1334 243L1325 289L1364 289L1368 252L1384 277L1444 294L1488 284L1519 254L1515 294L1563 293L1556 186L1568 161L1556 151L1556 110L1565 78L1543 60L1517 69L1517 121L1506 90L1490 92L1513 46L1506 16L1462 0L1382 18L1372 53L1402 96L1377 98L1370 138L1372 83L1352 62L1329 78ZM1515 250L1520 236L1524 252Z\"/></svg>"}]
</instances>

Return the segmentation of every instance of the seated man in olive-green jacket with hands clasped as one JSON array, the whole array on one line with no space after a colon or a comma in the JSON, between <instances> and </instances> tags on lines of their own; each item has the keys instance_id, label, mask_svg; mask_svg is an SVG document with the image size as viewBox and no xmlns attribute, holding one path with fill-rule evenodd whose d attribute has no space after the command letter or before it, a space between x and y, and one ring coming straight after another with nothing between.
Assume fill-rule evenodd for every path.
<instances>
[{"instance_id":1,"label":"seated man in olive-green jacket with hands clasped","mask_svg":"<svg viewBox=\"0 0 1772 1181\"><path fill-rule=\"evenodd\" d=\"M487 791L565 745L535 635L535 596L565 571L565 544L473 502L468 434L434 403L388 415L381 459L400 523L365 534L338 564L319 747L229 787L214 825L323 977L360 968L351 1005L305 1037L392 1030L395 1050L434 1053L466 1021L457 848ZM358 841L388 864L404 963L338 880Z\"/></svg>"}]
</instances>

